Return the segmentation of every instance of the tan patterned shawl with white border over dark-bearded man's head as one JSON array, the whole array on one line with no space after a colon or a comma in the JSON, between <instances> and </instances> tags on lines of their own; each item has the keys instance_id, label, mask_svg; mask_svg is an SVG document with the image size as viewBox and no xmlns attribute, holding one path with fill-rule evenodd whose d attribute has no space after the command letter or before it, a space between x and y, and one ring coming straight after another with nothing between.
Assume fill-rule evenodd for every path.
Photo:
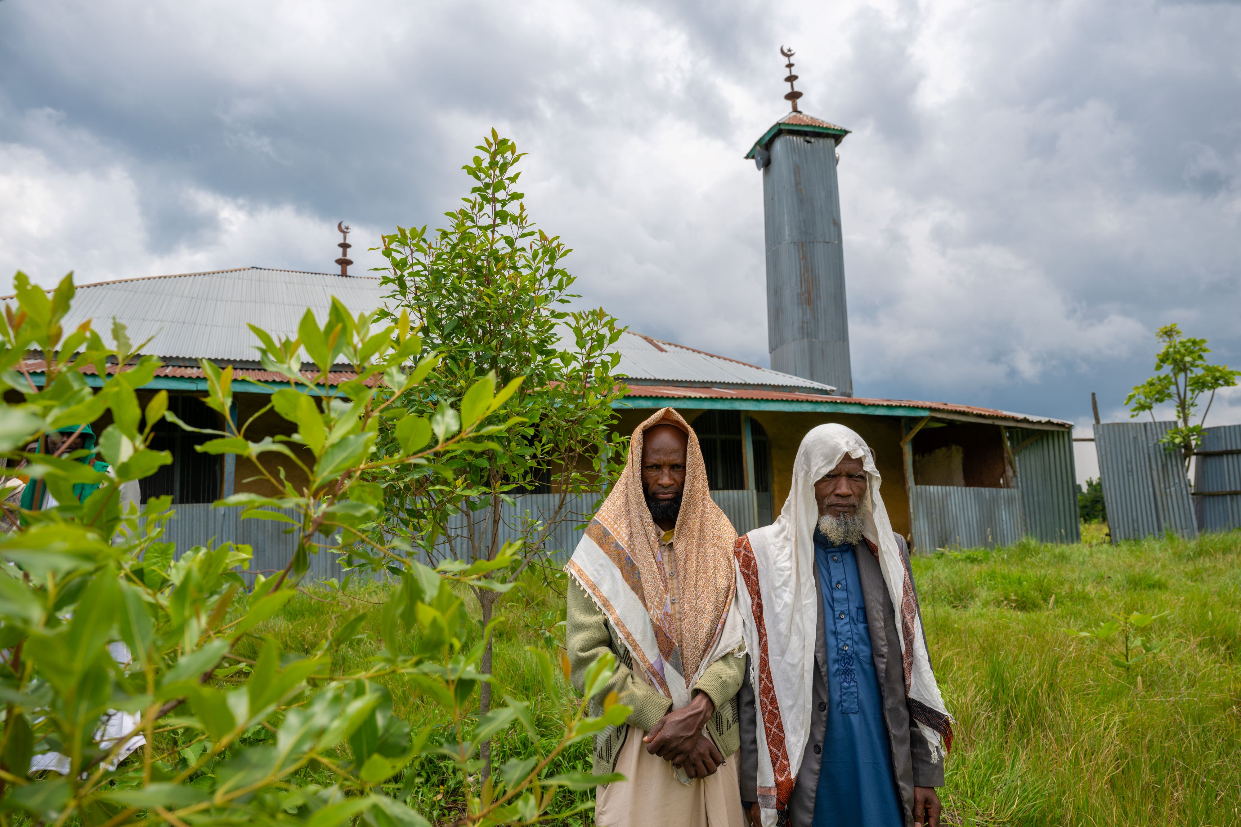
<instances>
[{"instance_id":1,"label":"tan patterned shawl with white border over dark-bearded man's head","mask_svg":"<svg viewBox=\"0 0 1241 827\"><path fill-rule=\"evenodd\" d=\"M675 578L668 577L670 567L660 559L663 532L650 517L642 486L643 435L665 424L689 434L673 542ZM730 611L737 591L731 553L736 539L732 523L711 500L694 429L671 408L658 410L633 431L624 472L566 569L674 708L689 703L690 688L707 666L741 645L741 620L737 611ZM676 598L680 630L673 622L671 598Z\"/></svg>"}]
</instances>

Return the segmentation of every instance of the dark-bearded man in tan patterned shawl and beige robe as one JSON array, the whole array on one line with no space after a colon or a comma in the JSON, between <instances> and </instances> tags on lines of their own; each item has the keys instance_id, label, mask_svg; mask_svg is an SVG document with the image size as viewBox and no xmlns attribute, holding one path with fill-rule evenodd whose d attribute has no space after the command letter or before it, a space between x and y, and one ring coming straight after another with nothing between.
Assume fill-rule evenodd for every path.
<instances>
[{"instance_id":1,"label":"dark-bearded man in tan patterned shawl and beige robe","mask_svg":"<svg viewBox=\"0 0 1241 827\"><path fill-rule=\"evenodd\" d=\"M594 772L627 779L598 790L603 827L745 825L736 539L694 430L671 408L656 412L633 431L624 472L567 565L573 684L611 651L617 671L599 698L616 692L633 708L594 738Z\"/></svg>"}]
</instances>

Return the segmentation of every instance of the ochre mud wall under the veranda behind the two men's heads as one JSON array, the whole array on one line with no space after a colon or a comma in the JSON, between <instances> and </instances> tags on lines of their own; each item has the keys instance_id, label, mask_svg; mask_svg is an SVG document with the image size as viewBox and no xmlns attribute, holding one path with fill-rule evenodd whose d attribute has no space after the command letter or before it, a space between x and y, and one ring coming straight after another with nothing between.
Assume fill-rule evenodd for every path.
<instances>
[{"instance_id":1,"label":"ochre mud wall under the veranda behind the two men's heads","mask_svg":"<svg viewBox=\"0 0 1241 827\"><path fill-rule=\"evenodd\" d=\"M692 425L694 418L702 413L696 408L676 408ZM633 433L644 419L655 413L654 409L622 409L618 412L616 430L623 436ZM875 451L875 464L881 479L880 496L887 507L892 521L892 531L908 537L910 505L905 492L905 462L901 459L901 419L900 417L866 417L859 414L819 414L791 413L779 410L747 410L767 431L771 444L772 461L772 511L779 513L788 497L789 482L793 475L793 460L802 438L815 425L839 423L858 431L871 450ZM998 429L997 429L998 430Z\"/></svg>"}]
</instances>

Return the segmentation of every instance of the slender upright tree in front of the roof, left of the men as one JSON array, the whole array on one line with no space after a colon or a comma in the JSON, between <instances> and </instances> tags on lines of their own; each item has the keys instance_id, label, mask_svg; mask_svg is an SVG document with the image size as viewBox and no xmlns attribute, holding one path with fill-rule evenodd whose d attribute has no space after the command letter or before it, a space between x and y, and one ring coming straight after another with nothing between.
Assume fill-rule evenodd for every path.
<instances>
[{"instance_id":1,"label":"slender upright tree in front of the roof, left of the men","mask_svg":"<svg viewBox=\"0 0 1241 827\"><path fill-rule=\"evenodd\" d=\"M443 474L406 465L374 479L386 493L383 529L423 538L421 552L432 560L494 562L506 541L520 543L520 560L498 575L500 585L475 591L485 625L506 588L544 559L552 529L585 520L572 507L575 495L598 492L613 479L624 445L611 429L612 402L623 393L613 374L619 353L611 346L622 331L602 309L567 309L577 298L562 265L570 250L536 229L526 212L516 188L516 145L493 130L477 149L463 167L469 195L447 213L447 227L398 227L383 237L390 312L410 314L439 363L403 394L410 418L388 419L382 433L401 440L411 418L432 415L448 399L462 400L462 422L469 422L469 388L480 371L506 389L520 382L500 409L508 428L478 453L446 459ZM457 425L447 419L449 431ZM552 503L513 517L516 497L532 491L555 493ZM490 670L488 645L483 671ZM484 686L483 714L490 703Z\"/></svg>"}]
</instances>

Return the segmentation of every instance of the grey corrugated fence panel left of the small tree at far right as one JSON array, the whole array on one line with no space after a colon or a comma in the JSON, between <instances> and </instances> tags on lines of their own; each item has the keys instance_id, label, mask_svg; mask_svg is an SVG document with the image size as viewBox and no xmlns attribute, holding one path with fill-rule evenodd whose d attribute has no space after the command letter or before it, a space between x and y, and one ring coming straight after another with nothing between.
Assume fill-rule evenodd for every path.
<instances>
[{"instance_id":1,"label":"grey corrugated fence panel left of the small tree at far right","mask_svg":"<svg viewBox=\"0 0 1241 827\"><path fill-rule=\"evenodd\" d=\"M1113 541L1174 532L1196 537L1198 522L1180 455L1159 439L1170 422L1112 422L1095 425L1095 450Z\"/></svg>"}]
</instances>

